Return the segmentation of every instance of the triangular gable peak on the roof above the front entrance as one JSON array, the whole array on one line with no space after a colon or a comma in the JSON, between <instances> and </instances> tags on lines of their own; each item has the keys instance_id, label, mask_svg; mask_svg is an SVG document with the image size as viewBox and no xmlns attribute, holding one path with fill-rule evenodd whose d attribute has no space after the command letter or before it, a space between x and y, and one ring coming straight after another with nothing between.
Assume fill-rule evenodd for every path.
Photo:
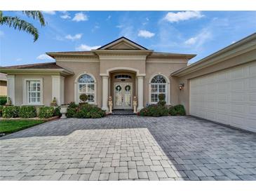
<instances>
[{"instance_id":1,"label":"triangular gable peak on the roof above the front entrance","mask_svg":"<svg viewBox=\"0 0 256 192\"><path fill-rule=\"evenodd\" d=\"M106 50L106 49L122 49L122 50L147 50L143 46L127 39L124 36L121 36L119 39L116 39L110 43L107 43L105 46L97 48L97 50Z\"/></svg>"}]
</instances>

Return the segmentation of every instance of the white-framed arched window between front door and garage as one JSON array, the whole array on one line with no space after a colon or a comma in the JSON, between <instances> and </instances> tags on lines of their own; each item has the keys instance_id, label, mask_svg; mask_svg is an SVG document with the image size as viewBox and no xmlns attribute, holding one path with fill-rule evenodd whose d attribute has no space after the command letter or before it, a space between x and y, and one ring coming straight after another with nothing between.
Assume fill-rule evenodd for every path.
<instances>
[{"instance_id":1,"label":"white-framed arched window between front door and garage","mask_svg":"<svg viewBox=\"0 0 256 192\"><path fill-rule=\"evenodd\" d=\"M167 81L162 75L156 75L151 79L151 103L159 102L159 94L163 93L166 95L166 101L168 99L167 95Z\"/></svg>"}]
</instances>

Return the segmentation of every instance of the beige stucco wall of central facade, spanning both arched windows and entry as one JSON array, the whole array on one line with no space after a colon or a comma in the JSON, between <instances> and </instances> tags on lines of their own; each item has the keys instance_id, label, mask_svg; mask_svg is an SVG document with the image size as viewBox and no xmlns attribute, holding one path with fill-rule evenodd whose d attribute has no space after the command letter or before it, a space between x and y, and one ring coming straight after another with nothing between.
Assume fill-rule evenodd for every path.
<instances>
[{"instance_id":1,"label":"beige stucco wall of central facade, spanning both arched windows and entry","mask_svg":"<svg viewBox=\"0 0 256 192\"><path fill-rule=\"evenodd\" d=\"M131 56L132 57L132 56ZM86 60L86 59L85 59ZM149 102L149 78L154 74L161 73L170 81L170 104L177 104L177 90L178 85L176 81L173 81L170 74L178 69L187 66L187 59L184 58L154 58L146 60L135 60L131 58L130 60L123 60L116 58L115 60L94 60L93 62L83 62L83 61L70 61L66 62L62 60L56 60L60 67L68 69L74 72L73 76L65 77L65 103L75 101L74 98L74 82L81 74L92 74L97 81L97 105L102 107L102 77L100 74L107 74L109 71L109 95L113 95L113 76L116 74L130 74L133 79L133 95L137 91L136 85L136 71L140 74L146 74L144 76L144 106ZM113 68L118 67L119 70L112 71ZM133 71L127 70L127 68L133 69Z\"/></svg>"}]
</instances>

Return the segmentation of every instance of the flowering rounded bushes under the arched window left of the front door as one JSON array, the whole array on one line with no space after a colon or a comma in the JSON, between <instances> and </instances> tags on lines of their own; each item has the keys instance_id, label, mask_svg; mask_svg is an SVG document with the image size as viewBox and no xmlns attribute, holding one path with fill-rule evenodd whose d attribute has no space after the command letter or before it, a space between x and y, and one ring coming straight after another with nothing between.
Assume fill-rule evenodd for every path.
<instances>
[{"instance_id":1,"label":"flowering rounded bushes under the arched window left of the front door","mask_svg":"<svg viewBox=\"0 0 256 192\"><path fill-rule=\"evenodd\" d=\"M71 102L67 108L68 118L102 118L105 111L92 104L75 104Z\"/></svg>"}]
</instances>

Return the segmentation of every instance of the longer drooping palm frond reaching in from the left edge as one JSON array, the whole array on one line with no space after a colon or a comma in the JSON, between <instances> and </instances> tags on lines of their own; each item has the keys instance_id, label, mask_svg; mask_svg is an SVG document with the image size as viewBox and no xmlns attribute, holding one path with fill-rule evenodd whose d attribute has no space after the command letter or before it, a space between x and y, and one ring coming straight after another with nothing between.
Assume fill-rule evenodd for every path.
<instances>
[{"instance_id":1,"label":"longer drooping palm frond reaching in from the left edge","mask_svg":"<svg viewBox=\"0 0 256 192\"><path fill-rule=\"evenodd\" d=\"M0 20L0 25L8 25L9 27L13 27L14 29L22 30L27 32L28 34L32 34L34 36L34 41L39 38L39 32L31 23L21 20L18 17L8 17L4 16Z\"/></svg>"}]
</instances>

